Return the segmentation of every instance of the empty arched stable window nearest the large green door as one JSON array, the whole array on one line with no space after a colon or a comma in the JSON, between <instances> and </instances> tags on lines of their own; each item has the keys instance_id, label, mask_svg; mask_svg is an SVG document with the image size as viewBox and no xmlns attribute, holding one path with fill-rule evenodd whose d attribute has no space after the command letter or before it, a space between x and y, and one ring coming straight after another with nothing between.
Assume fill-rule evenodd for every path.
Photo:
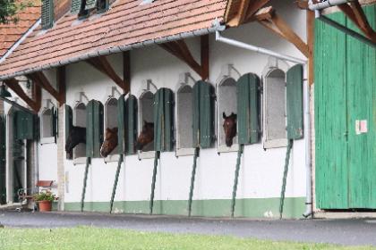
<instances>
[{"instance_id":1,"label":"empty arched stable window nearest the large green door","mask_svg":"<svg viewBox=\"0 0 376 250\"><path fill-rule=\"evenodd\" d=\"M264 148L287 145L286 74L273 69L264 78Z\"/></svg>"}]
</instances>

